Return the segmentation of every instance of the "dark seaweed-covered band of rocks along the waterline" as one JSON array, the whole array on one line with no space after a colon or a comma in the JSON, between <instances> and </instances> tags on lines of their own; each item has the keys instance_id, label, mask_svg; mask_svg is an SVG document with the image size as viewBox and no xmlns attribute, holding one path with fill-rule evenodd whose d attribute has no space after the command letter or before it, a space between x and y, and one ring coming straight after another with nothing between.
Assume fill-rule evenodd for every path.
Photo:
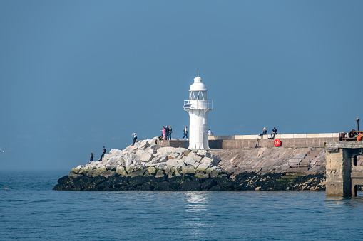
<instances>
[{"instance_id":1,"label":"dark seaweed-covered band of rocks along the waterline","mask_svg":"<svg viewBox=\"0 0 363 241\"><path fill-rule=\"evenodd\" d=\"M65 191L322 191L325 174L287 176L285 173L173 173L142 170L120 176L65 176L53 190Z\"/></svg>"}]
</instances>

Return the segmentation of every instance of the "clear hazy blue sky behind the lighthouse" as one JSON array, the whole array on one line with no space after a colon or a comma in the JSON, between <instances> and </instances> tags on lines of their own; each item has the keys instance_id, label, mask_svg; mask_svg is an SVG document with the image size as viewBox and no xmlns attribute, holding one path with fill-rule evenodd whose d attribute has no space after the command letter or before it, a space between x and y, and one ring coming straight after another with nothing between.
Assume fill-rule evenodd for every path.
<instances>
[{"instance_id":1,"label":"clear hazy blue sky behind the lighthouse","mask_svg":"<svg viewBox=\"0 0 363 241\"><path fill-rule=\"evenodd\" d=\"M181 139L197 71L216 136L357 129L362 10L330 0L0 0L0 170L70 170L165 125Z\"/></svg>"}]
</instances>

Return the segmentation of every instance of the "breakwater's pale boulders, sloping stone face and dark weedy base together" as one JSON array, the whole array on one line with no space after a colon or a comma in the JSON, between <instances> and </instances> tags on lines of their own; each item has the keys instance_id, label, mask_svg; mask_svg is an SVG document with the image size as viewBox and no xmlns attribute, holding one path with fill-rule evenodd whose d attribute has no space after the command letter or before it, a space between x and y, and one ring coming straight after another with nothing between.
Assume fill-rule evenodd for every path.
<instances>
[{"instance_id":1,"label":"breakwater's pale boulders, sloping stone face and dark weedy base together","mask_svg":"<svg viewBox=\"0 0 363 241\"><path fill-rule=\"evenodd\" d=\"M79 165L58 180L54 190L68 191L267 191L324 190L324 150L315 171L289 173L289 160L312 149L188 150L161 147L157 138L124 150L112 149L103 161Z\"/></svg>"}]
</instances>

